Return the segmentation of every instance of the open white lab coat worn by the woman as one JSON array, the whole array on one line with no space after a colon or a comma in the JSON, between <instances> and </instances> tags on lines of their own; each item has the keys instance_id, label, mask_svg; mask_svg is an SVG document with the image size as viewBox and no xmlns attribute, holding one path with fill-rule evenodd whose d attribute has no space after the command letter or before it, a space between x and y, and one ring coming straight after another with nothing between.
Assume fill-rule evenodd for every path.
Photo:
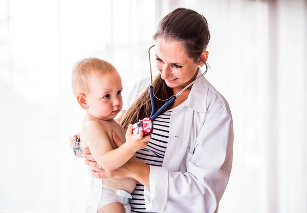
<instances>
[{"instance_id":1,"label":"open white lab coat worn by the woman","mask_svg":"<svg viewBox=\"0 0 307 213\"><path fill-rule=\"evenodd\" d=\"M148 85L148 79L137 83L127 105ZM150 189L144 190L146 211L217 212L231 172L232 145L229 105L201 77L171 114L162 167L150 166Z\"/></svg>"}]
</instances>

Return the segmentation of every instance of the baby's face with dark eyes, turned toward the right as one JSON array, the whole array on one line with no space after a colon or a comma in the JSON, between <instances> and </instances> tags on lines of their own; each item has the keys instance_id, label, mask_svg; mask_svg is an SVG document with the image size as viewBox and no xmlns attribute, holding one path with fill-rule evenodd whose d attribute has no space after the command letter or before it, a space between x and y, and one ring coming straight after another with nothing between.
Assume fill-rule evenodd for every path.
<instances>
[{"instance_id":1,"label":"baby's face with dark eyes, turned toward the right","mask_svg":"<svg viewBox=\"0 0 307 213\"><path fill-rule=\"evenodd\" d=\"M98 119L109 120L114 118L122 109L123 89L121 78L117 71L104 75L92 75L89 78L90 93L86 95L86 110Z\"/></svg>"}]
</instances>

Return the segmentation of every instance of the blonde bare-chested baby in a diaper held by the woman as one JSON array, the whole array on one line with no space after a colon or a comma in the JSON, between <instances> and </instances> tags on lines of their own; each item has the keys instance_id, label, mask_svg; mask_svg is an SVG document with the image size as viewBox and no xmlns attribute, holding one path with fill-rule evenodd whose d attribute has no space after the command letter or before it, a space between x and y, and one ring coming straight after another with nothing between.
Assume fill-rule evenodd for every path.
<instances>
[{"instance_id":1,"label":"blonde bare-chested baby in a diaper held by the woman","mask_svg":"<svg viewBox=\"0 0 307 213\"><path fill-rule=\"evenodd\" d=\"M105 170L116 169L144 148L150 136L133 135L131 125L125 133L114 119L122 109L121 78L111 63L99 58L78 61L72 73L73 92L86 111L80 136L81 147L89 147L93 158ZM116 147L112 132L121 141ZM136 186L131 178L94 179L86 212L130 212L128 199Z\"/></svg>"}]
</instances>

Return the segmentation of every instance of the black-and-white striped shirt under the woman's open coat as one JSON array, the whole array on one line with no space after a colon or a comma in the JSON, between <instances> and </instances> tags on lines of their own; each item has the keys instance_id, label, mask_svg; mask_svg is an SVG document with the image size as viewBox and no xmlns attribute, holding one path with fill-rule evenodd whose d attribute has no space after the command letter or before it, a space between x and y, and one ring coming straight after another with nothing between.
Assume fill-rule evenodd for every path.
<instances>
[{"instance_id":1,"label":"black-and-white striped shirt under the woman's open coat","mask_svg":"<svg viewBox=\"0 0 307 213\"><path fill-rule=\"evenodd\" d=\"M169 137L169 120L172 110L166 111L153 120L151 139L143 150L136 153L136 158L153 166L162 166ZM129 203L132 212L146 212L144 200L144 185L137 182L135 190L131 193Z\"/></svg>"}]
</instances>

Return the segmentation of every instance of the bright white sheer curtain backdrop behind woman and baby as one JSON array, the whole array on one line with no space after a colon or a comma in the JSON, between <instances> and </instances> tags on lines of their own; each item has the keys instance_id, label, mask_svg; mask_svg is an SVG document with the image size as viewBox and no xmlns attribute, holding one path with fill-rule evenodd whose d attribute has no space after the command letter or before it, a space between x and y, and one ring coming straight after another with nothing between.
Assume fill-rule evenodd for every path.
<instances>
[{"instance_id":1,"label":"bright white sheer curtain backdrop behind woman and baby","mask_svg":"<svg viewBox=\"0 0 307 213\"><path fill-rule=\"evenodd\" d=\"M84 113L73 63L109 60L126 98L149 74L158 21L177 7L207 18L206 76L232 110L233 170L219 212L307 212L303 0L0 0L0 212L82 212L90 178L69 147Z\"/></svg>"}]
</instances>

